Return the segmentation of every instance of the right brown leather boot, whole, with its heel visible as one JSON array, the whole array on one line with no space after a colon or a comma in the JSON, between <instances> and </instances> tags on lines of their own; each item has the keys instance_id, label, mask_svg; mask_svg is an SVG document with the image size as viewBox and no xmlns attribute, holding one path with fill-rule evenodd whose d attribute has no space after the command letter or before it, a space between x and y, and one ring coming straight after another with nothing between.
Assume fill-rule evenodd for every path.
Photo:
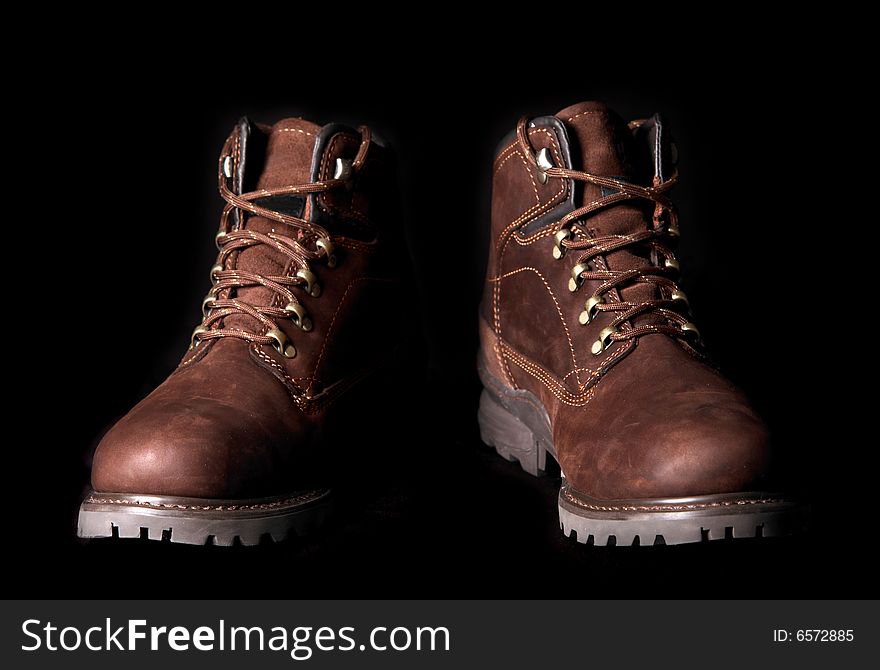
<instances>
[{"instance_id":1,"label":"right brown leather boot, whole, with its heel visible","mask_svg":"<svg viewBox=\"0 0 880 670\"><path fill-rule=\"evenodd\" d=\"M494 164L481 306L483 440L532 474L560 464L560 525L595 544L777 535L768 436L708 363L678 287L658 116L598 103L522 119Z\"/></svg>"}]
</instances>

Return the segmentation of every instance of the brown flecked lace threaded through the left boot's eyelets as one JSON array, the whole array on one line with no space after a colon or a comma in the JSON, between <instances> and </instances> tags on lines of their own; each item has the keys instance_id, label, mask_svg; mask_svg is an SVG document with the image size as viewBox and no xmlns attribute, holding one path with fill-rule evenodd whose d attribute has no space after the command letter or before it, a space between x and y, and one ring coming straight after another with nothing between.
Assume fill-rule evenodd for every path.
<instances>
[{"instance_id":1,"label":"brown flecked lace threaded through the left boot's eyelets","mask_svg":"<svg viewBox=\"0 0 880 670\"><path fill-rule=\"evenodd\" d=\"M278 327L278 321L290 319L301 330L306 332L312 330L312 319L293 289L303 289L315 298L321 294L318 278L310 269L309 264L323 260L327 267L335 267L336 256L333 242L330 233L322 226L300 217L267 209L254 201L258 198L271 196L306 195L347 187L351 176L357 173L366 160L370 145L370 129L362 126L360 133L361 144L355 158L350 162L337 159L333 179L280 188L258 189L242 194L236 194L229 188L232 180L231 156L234 140L233 137L230 137L226 141L220 155L218 177L220 195L226 201L226 206L220 217L220 232L216 237L219 254L216 264L211 268L213 286L202 301L202 323L192 334L192 348L207 340L234 337L251 344L270 344L286 358L296 356L296 347L284 331ZM236 209L252 216L260 216L284 224L288 234L261 233L241 227L230 230L229 219ZM293 235L290 234L291 232ZM247 270L226 268L227 261L232 254L259 245L268 246L288 259L292 272L285 275L267 276ZM256 286L263 286L280 295L284 307L276 307L274 304L254 305L240 298L232 297L232 293L236 289ZM263 326L264 334L224 326L223 319L233 314L246 314L252 317Z\"/></svg>"}]
</instances>

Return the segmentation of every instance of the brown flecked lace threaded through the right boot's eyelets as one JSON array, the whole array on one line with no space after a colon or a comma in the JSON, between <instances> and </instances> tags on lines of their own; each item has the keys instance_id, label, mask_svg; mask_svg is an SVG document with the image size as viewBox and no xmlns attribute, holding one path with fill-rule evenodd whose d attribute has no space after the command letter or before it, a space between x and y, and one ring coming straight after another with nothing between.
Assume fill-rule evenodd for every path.
<instances>
[{"instance_id":1,"label":"brown flecked lace threaded through the right boot's eyelets","mask_svg":"<svg viewBox=\"0 0 880 670\"><path fill-rule=\"evenodd\" d=\"M614 342L634 340L649 333L663 333L671 337L687 340L690 344L699 342L700 333L682 313L688 310L687 296L675 279L678 276L678 262L672 251L679 236L678 217L675 207L666 192L678 181L678 175L660 181L654 178L649 187L638 186L629 182L569 170L553 165L550 152L542 149L535 152L528 138L528 118L523 117L517 124L517 138L523 154L529 156L543 181L548 178L573 179L604 187L611 191L583 207L579 207L563 216L557 225L554 236L555 246L553 257L561 259L567 251L580 251L571 270L568 289L578 291L585 282L601 282L586 299L584 309L578 317L582 325L593 321L604 312L616 316L611 323L599 333L593 343L591 352L599 355ZM653 225L651 229L638 231L629 235L601 235L590 237L582 221L594 212L629 200L648 200L654 203ZM577 230L575 227L577 226ZM595 267L594 261L614 251L627 247L644 247L650 249L651 264L629 270L611 270ZM653 284L661 297L643 302L626 300L605 300L605 295L615 289L637 283ZM632 319L648 314L656 314L664 322L649 322L633 326Z\"/></svg>"}]
</instances>

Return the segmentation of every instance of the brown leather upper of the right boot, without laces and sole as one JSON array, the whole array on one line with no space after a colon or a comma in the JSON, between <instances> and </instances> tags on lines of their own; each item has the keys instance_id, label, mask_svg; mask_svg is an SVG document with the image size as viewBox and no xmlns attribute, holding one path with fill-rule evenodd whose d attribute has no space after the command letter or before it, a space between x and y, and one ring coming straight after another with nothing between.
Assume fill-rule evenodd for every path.
<instances>
[{"instance_id":1,"label":"brown leather upper of the right boot, without laces and sole","mask_svg":"<svg viewBox=\"0 0 880 670\"><path fill-rule=\"evenodd\" d=\"M556 166L647 185L670 168L659 126L640 133L599 103L544 119L533 120L528 137L536 152L550 150ZM493 170L482 358L503 387L541 401L573 488L593 498L634 499L762 487L770 459L766 428L699 347L648 334L591 352L613 314L578 321L599 282L569 291L576 254L554 258L553 236L564 213L607 193L571 179L542 184L515 137L502 144ZM650 225L651 213L645 204L622 202L585 217L583 227L591 236L633 234ZM622 250L597 258L596 266L626 270L651 262L648 254ZM608 299L638 303L656 298L654 291L634 284Z\"/></svg>"}]
</instances>

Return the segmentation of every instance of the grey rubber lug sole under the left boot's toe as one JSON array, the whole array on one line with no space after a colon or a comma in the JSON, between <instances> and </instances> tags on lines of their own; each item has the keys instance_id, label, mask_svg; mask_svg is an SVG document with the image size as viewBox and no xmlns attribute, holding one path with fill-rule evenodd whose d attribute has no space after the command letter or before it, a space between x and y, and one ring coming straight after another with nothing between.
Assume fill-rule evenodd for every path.
<instances>
[{"instance_id":1,"label":"grey rubber lug sole under the left boot's toe","mask_svg":"<svg viewBox=\"0 0 880 670\"><path fill-rule=\"evenodd\" d=\"M280 542L320 526L329 501L326 489L254 500L92 492L80 505L77 535L223 547Z\"/></svg>"}]
</instances>

